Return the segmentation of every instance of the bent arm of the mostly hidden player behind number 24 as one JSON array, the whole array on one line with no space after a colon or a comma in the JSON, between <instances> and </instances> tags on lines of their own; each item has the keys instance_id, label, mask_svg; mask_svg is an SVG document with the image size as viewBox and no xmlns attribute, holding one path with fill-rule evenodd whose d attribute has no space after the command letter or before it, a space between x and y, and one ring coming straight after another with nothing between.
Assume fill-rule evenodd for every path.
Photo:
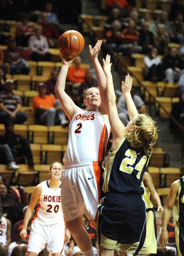
<instances>
[{"instance_id":1,"label":"bent arm of the mostly hidden player behind number 24","mask_svg":"<svg viewBox=\"0 0 184 256\"><path fill-rule=\"evenodd\" d=\"M163 207L160 201L160 197L158 196L158 193L155 190L155 186L153 185L153 180L151 178L151 175L148 172L144 172L143 183L150 191L151 197L153 198L154 202L158 205L157 211L163 212Z\"/></svg>"}]
</instances>

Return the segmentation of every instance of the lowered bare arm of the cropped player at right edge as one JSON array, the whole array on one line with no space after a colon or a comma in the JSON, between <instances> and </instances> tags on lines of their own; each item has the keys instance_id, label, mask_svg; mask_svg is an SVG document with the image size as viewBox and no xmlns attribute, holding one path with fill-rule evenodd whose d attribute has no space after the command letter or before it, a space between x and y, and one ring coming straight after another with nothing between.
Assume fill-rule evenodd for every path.
<instances>
[{"instance_id":1,"label":"lowered bare arm of the cropped player at right edge","mask_svg":"<svg viewBox=\"0 0 184 256\"><path fill-rule=\"evenodd\" d=\"M173 182L170 188L169 195L167 196L166 204L162 214L162 231L159 238L159 244L162 248L166 247L168 244L168 234L167 234L167 223L171 216L171 210L173 208L174 201L178 195L180 188L180 180Z\"/></svg>"}]
</instances>

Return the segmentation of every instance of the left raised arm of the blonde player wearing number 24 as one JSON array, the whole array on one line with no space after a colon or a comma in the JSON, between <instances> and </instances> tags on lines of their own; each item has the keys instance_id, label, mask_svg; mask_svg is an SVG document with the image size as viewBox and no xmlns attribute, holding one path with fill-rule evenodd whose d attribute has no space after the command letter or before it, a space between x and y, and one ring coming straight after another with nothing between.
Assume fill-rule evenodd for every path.
<instances>
[{"instance_id":1,"label":"left raised arm of the blonde player wearing number 24","mask_svg":"<svg viewBox=\"0 0 184 256\"><path fill-rule=\"evenodd\" d=\"M103 59L104 72L107 79L107 89L106 89L106 100L107 100L107 109L110 126L113 132L113 142L112 142L112 151L116 150L119 143L124 137L125 126L121 122L118 116L118 111L116 108L116 96L114 92L113 77L111 74L111 63L110 56L107 54L106 60ZM127 79L127 77L126 77Z\"/></svg>"}]
</instances>

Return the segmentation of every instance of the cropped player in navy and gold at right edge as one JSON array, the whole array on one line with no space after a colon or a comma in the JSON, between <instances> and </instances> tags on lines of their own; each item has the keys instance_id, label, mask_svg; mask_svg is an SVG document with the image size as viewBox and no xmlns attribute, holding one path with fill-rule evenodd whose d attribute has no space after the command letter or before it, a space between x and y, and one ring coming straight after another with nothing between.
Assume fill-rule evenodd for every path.
<instances>
[{"instance_id":1,"label":"cropped player in navy and gold at right edge","mask_svg":"<svg viewBox=\"0 0 184 256\"><path fill-rule=\"evenodd\" d=\"M184 161L183 161L184 163ZM175 239L177 256L184 255L184 176L173 182L167 196L166 204L162 214L162 231L160 234L159 244L165 248L168 244L167 223L171 216L173 208L173 218L175 223Z\"/></svg>"}]
</instances>

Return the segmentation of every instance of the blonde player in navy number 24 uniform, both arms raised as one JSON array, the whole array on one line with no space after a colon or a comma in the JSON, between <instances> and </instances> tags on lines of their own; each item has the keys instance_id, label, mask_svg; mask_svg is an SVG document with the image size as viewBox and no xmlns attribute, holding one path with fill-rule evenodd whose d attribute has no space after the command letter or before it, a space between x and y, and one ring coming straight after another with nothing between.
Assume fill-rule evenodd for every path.
<instances>
[{"instance_id":1,"label":"blonde player in navy number 24 uniform, both arms raised","mask_svg":"<svg viewBox=\"0 0 184 256\"><path fill-rule=\"evenodd\" d=\"M98 208L99 255L113 256L114 250L146 255L146 209L141 197L144 194L141 182L151 156L150 144L158 137L156 127L150 117L137 113L130 94L132 78L129 75L122 82L121 89L130 122L126 127L122 124L116 108L108 54L103 63L113 142L104 175L105 194Z\"/></svg>"}]
</instances>

